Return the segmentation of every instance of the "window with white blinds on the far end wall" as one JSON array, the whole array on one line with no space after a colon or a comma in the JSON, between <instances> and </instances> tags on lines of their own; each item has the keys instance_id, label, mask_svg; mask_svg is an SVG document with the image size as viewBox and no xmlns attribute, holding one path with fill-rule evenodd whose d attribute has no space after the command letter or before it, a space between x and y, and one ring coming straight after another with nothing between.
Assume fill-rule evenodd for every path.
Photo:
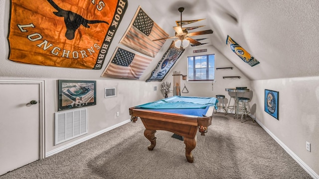
<instances>
[{"instance_id":1,"label":"window with white blinds on the far end wall","mask_svg":"<svg viewBox=\"0 0 319 179\"><path fill-rule=\"evenodd\" d=\"M188 57L188 81L215 80L215 54Z\"/></svg>"}]
</instances>

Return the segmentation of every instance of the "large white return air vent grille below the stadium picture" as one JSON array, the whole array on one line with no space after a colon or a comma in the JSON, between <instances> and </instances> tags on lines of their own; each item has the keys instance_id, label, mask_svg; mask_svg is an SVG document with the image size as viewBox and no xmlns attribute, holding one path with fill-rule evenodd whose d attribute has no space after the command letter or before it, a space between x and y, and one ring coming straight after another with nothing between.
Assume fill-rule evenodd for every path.
<instances>
[{"instance_id":1,"label":"large white return air vent grille below the stadium picture","mask_svg":"<svg viewBox=\"0 0 319 179\"><path fill-rule=\"evenodd\" d=\"M87 108L55 113L54 145L88 133Z\"/></svg>"}]
</instances>

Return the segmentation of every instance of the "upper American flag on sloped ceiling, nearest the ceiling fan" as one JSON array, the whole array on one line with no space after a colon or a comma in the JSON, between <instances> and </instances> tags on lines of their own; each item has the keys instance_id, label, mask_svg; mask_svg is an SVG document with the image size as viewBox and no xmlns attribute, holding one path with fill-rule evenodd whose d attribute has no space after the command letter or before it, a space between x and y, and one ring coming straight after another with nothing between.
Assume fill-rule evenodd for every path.
<instances>
[{"instance_id":1,"label":"upper American flag on sloped ceiling, nearest the ceiling fan","mask_svg":"<svg viewBox=\"0 0 319 179\"><path fill-rule=\"evenodd\" d=\"M166 40L152 40L165 37L168 34L139 6L120 43L144 55L155 57Z\"/></svg>"}]
</instances>

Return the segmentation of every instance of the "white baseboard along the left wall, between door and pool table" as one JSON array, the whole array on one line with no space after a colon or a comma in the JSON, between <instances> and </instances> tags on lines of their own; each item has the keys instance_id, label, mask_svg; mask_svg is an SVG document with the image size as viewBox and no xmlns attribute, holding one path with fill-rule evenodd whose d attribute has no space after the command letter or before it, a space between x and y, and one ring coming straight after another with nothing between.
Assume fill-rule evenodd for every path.
<instances>
[{"instance_id":1,"label":"white baseboard along the left wall, between door and pool table","mask_svg":"<svg viewBox=\"0 0 319 179\"><path fill-rule=\"evenodd\" d=\"M107 132L107 131L110 131L110 130L112 130L112 129L115 129L115 128L117 128L117 127L119 127L119 126L121 126L121 125L124 125L124 124L126 124L126 123L129 123L129 122L131 122L131 119L128 119L128 120L123 121L123 122L120 122L120 123L118 123L118 124L116 124L116 125L113 125L113 126L111 126L111 127L105 128L105 129L103 129L103 130L101 130L101 131L98 131L98 132L96 132L96 133L93 133L93 134L91 134L91 135L85 136L85 137L83 137L83 138L81 138L81 139L79 139L79 140L73 141L73 142L68 143L68 144L66 144L66 145L64 145L64 146L61 146L61 147L59 147L59 148L56 148L56 149L54 149L54 150L52 150L52 151L50 151L50 152L46 152L46 153L45 153L45 157L49 157L49 156L52 156L52 155L57 154L57 153L59 153L59 152L62 152L62 151L64 151L65 149L68 149L68 148L71 148L71 147L73 147L73 146L76 146L76 145L78 145L78 144L80 144L80 143L82 143L82 142L84 142L84 141L87 141L87 140L89 140L89 139L92 139L93 137L96 137L96 136L98 136L98 135L100 135L100 134L103 134L104 132Z\"/></svg>"}]
</instances>

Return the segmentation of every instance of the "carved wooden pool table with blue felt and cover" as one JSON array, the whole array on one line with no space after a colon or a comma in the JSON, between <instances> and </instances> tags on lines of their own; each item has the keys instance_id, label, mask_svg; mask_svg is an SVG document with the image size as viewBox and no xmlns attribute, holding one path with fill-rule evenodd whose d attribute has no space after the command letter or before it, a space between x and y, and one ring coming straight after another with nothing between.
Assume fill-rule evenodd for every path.
<instances>
[{"instance_id":1,"label":"carved wooden pool table with blue felt and cover","mask_svg":"<svg viewBox=\"0 0 319 179\"><path fill-rule=\"evenodd\" d=\"M183 136L185 155L189 163L194 157L191 151L196 147L197 130L205 135L216 110L215 97L172 96L158 101L131 107L131 121L141 118L145 137L151 142L149 150L156 146L156 130L165 130Z\"/></svg>"}]
</instances>

